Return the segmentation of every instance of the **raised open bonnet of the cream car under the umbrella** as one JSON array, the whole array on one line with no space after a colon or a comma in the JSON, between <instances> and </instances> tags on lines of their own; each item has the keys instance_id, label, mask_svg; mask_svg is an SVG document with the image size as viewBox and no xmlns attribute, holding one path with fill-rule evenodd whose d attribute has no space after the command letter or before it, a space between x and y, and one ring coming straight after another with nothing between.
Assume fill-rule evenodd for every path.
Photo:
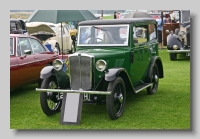
<instances>
[{"instance_id":1,"label":"raised open bonnet of the cream car under the umbrella","mask_svg":"<svg viewBox=\"0 0 200 139\"><path fill-rule=\"evenodd\" d=\"M42 22L26 23L26 29L28 31L28 34L34 34L39 32L55 33L49 25Z\"/></svg>"}]
</instances>

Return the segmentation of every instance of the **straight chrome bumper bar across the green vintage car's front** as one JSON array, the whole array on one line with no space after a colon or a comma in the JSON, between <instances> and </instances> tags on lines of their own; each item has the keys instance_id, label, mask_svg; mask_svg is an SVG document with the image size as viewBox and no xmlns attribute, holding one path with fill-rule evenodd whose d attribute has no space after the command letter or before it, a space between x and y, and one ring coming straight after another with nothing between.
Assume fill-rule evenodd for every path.
<instances>
[{"instance_id":1,"label":"straight chrome bumper bar across the green vintage car's front","mask_svg":"<svg viewBox=\"0 0 200 139\"><path fill-rule=\"evenodd\" d=\"M80 93L80 94L111 95L111 91L83 91L83 90L42 89L42 88L36 88L36 91L40 91L40 92L59 92L59 93Z\"/></svg>"}]
</instances>

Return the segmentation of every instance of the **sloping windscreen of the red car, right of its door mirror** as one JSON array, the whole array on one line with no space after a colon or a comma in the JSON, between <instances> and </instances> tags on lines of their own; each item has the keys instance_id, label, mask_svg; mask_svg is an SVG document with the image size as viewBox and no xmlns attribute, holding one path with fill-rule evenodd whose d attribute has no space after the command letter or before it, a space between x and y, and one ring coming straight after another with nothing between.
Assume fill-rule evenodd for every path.
<instances>
[{"instance_id":1,"label":"sloping windscreen of the red car, right of its door mirror","mask_svg":"<svg viewBox=\"0 0 200 139\"><path fill-rule=\"evenodd\" d=\"M46 51L43 45L38 40L30 38L30 42L33 49L33 53L42 53Z\"/></svg>"}]
</instances>

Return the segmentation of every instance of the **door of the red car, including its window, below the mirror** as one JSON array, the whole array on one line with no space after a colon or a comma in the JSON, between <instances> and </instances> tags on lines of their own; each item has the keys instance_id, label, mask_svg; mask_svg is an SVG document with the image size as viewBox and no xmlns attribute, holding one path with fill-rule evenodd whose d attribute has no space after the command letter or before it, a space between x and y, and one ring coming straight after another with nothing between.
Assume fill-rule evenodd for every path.
<instances>
[{"instance_id":1,"label":"door of the red car, including its window, below the mirror","mask_svg":"<svg viewBox=\"0 0 200 139\"><path fill-rule=\"evenodd\" d=\"M24 50L30 50L31 54L24 54ZM28 84L38 80L39 63L37 57L33 53L28 37L18 38L17 55L20 82Z\"/></svg>"}]
</instances>

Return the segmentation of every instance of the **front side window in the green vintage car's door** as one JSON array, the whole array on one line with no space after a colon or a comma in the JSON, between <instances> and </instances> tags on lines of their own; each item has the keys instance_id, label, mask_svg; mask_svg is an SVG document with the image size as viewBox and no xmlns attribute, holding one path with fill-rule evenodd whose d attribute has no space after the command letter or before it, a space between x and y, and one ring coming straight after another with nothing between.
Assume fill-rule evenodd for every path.
<instances>
[{"instance_id":1,"label":"front side window in the green vintage car's door","mask_svg":"<svg viewBox=\"0 0 200 139\"><path fill-rule=\"evenodd\" d=\"M133 41L134 43L147 42L147 27L146 26L135 26L133 27Z\"/></svg>"}]
</instances>

